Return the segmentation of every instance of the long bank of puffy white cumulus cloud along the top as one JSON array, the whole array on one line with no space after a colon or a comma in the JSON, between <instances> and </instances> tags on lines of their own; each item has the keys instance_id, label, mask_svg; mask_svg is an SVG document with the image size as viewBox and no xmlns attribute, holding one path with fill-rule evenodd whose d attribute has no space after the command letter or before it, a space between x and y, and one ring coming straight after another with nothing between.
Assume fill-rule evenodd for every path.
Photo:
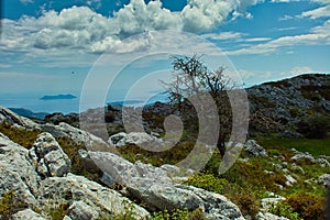
<instances>
[{"instance_id":1,"label":"long bank of puffy white cumulus cloud along the top","mask_svg":"<svg viewBox=\"0 0 330 220\"><path fill-rule=\"evenodd\" d=\"M22 0L29 2L32 0ZM123 38L153 30L201 32L220 25L230 14L261 0L188 0L178 12L163 8L161 0L131 0L113 16L103 16L87 7L72 7L57 12L43 11L38 18L2 20L2 52L31 53L34 50L74 50L102 53ZM98 4L99 0L89 0Z\"/></svg>"}]
</instances>

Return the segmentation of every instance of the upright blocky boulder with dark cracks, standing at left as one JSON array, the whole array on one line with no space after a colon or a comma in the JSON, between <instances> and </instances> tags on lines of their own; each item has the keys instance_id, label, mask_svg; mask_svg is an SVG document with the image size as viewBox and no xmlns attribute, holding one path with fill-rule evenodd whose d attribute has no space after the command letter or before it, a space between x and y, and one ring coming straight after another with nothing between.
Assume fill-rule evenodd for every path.
<instances>
[{"instance_id":1,"label":"upright blocky boulder with dark cracks, standing at left","mask_svg":"<svg viewBox=\"0 0 330 220\"><path fill-rule=\"evenodd\" d=\"M70 172L72 162L52 134L38 134L29 152L36 170L43 176L64 176Z\"/></svg>"}]
</instances>

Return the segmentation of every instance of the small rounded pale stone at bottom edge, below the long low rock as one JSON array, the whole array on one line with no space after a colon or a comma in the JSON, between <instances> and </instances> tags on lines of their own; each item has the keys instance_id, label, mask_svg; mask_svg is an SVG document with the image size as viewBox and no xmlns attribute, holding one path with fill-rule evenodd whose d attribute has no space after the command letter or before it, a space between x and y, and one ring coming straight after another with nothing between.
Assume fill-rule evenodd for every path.
<instances>
[{"instance_id":1,"label":"small rounded pale stone at bottom edge, below the long low rock","mask_svg":"<svg viewBox=\"0 0 330 220\"><path fill-rule=\"evenodd\" d=\"M99 218L99 210L88 206L84 201L74 201L66 213L72 219L96 220Z\"/></svg>"}]
</instances>

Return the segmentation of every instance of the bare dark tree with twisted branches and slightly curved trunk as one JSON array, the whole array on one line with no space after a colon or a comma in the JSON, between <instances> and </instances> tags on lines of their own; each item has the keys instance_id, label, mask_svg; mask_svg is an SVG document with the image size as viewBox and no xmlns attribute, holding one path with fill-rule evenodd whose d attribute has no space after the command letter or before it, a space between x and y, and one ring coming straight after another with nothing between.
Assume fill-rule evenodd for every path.
<instances>
[{"instance_id":1,"label":"bare dark tree with twisted branches and slightly curved trunk","mask_svg":"<svg viewBox=\"0 0 330 220\"><path fill-rule=\"evenodd\" d=\"M199 100L209 94L219 116L219 135L217 147L223 156L226 142L232 129L232 111L228 91L237 88L235 81L224 76L226 68L220 66L216 70L209 70L201 56L173 56L174 77L170 82L164 82L172 103L180 111L183 103L189 97ZM206 109L207 111L207 109Z\"/></svg>"}]
</instances>

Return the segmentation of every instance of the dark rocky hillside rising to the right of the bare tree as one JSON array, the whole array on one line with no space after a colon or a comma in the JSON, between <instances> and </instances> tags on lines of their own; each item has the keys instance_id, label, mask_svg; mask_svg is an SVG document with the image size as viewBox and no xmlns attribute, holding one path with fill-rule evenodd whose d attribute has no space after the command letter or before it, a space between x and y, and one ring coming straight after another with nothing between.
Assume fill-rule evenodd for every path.
<instances>
[{"instance_id":1,"label":"dark rocky hillside rising to the right of the bare tree","mask_svg":"<svg viewBox=\"0 0 330 220\"><path fill-rule=\"evenodd\" d=\"M330 75L300 75L254 86L246 91L252 130L273 130L282 132L284 136L301 138L297 133L297 124L301 120L330 117Z\"/></svg>"}]
</instances>

